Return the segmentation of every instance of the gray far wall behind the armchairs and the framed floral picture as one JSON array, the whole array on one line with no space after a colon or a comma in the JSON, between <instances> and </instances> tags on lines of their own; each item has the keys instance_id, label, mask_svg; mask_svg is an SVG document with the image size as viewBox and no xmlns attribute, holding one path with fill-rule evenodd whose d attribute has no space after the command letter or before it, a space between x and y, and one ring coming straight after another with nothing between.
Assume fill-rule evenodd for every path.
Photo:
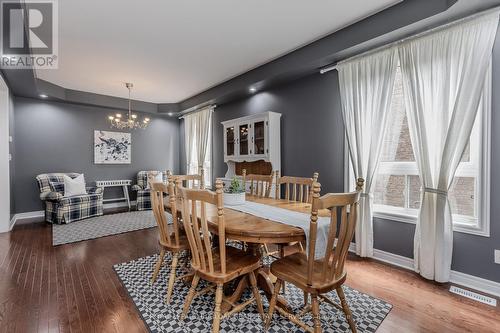
<instances>
[{"instance_id":1,"label":"gray far wall behind the armchairs and the framed floral picture","mask_svg":"<svg viewBox=\"0 0 500 333\"><path fill-rule=\"evenodd\" d=\"M43 208L35 176L46 172L82 172L87 183L132 179L140 170L178 171L178 120L148 114L146 130L132 131L132 163L94 164L94 130L111 130L112 109L16 97L14 194L16 213ZM114 193L111 193L114 195Z\"/></svg>"}]
</instances>

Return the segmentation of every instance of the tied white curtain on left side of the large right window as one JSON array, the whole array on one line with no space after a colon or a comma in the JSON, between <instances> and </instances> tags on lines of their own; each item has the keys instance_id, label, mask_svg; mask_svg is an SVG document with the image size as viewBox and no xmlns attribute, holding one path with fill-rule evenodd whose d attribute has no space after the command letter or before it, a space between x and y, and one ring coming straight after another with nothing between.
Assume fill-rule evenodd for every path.
<instances>
[{"instance_id":1,"label":"tied white curtain on left side of the large right window","mask_svg":"<svg viewBox=\"0 0 500 333\"><path fill-rule=\"evenodd\" d=\"M357 178L365 179L356 223L356 253L373 256L373 195L397 66L397 50L347 60L337 66L342 114Z\"/></svg>"}]
</instances>

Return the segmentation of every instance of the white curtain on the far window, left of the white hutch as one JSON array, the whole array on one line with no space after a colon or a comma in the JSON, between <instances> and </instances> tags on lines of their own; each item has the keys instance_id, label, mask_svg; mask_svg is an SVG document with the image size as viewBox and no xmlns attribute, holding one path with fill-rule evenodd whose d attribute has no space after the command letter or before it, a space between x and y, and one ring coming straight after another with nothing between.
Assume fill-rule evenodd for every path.
<instances>
[{"instance_id":1,"label":"white curtain on the far window, left of the white hutch","mask_svg":"<svg viewBox=\"0 0 500 333\"><path fill-rule=\"evenodd\" d=\"M214 107L184 117L187 173L200 173L203 169L205 185L210 186L211 127Z\"/></svg>"}]
</instances>

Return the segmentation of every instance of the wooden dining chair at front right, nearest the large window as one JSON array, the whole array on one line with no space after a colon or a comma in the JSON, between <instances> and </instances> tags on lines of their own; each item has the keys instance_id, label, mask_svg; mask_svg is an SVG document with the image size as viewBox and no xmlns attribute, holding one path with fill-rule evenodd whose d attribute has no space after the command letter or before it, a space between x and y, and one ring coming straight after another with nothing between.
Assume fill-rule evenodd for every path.
<instances>
[{"instance_id":1,"label":"wooden dining chair at front right, nearest the large window","mask_svg":"<svg viewBox=\"0 0 500 333\"><path fill-rule=\"evenodd\" d=\"M319 316L319 300L321 299L321 301L342 310L347 318L351 331L356 332L356 325L352 318L349 305L347 304L344 291L342 290L342 285L347 277L345 261L356 227L356 214L360 192L328 193L320 198L320 190L320 184L314 183L308 253L298 252L280 258L271 264L271 273L276 276L277 280L274 286L274 294L269 304L266 330L269 328L272 315L276 308L278 312L307 332L321 332ZM319 210L330 211L330 227L324 257L315 259L314 253ZM338 229L338 239L337 242L335 242L338 214L340 214L340 227ZM281 307L276 307L276 296L284 281L292 283L302 289L306 295L311 295L311 304L308 304L306 301L304 309L298 315L291 314ZM340 305L333 302L325 295L332 290L337 292L341 303ZM301 316L310 311L312 311L314 327L307 326L300 320Z\"/></svg>"}]
</instances>

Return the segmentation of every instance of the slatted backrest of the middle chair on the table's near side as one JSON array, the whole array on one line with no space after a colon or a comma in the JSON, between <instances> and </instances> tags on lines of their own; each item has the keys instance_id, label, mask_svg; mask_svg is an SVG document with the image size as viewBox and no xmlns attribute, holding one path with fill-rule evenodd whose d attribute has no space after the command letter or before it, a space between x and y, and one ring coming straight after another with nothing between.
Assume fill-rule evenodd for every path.
<instances>
[{"instance_id":1,"label":"slatted backrest of the middle chair on the table's near side","mask_svg":"<svg viewBox=\"0 0 500 333\"><path fill-rule=\"evenodd\" d=\"M179 187L182 197L184 230L191 248L191 266L205 274L226 274L226 235L222 203L222 180L215 183L215 192ZM212 254L212 235L207 222L207 205L217 207L220 265Z\"/></svg>"}]
</instances>

